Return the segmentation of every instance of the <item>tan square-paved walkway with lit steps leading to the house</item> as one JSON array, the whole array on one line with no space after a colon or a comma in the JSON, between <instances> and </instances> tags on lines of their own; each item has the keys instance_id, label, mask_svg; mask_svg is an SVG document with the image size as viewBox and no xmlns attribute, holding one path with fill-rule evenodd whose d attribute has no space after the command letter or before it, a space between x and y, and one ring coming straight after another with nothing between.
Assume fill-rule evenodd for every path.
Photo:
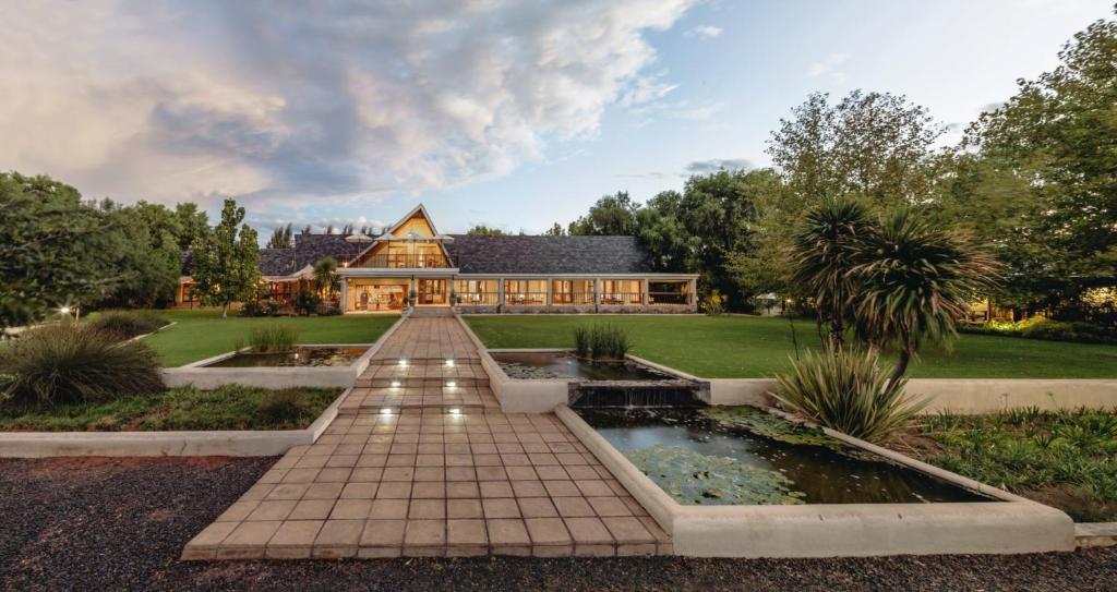
<instances>
[{"instance_id":1,"label":"tan square-paved walkway with lit steps leading to the house","mask_svg":"<svg viewBox=\"0 0 1117 592\"><path fill-rule=\"evenodd\" d=\"M500 411L477 360L457 319L404 321L318 441L279 459L183 558L669 553L555 416Z\"/></svg>"}]
</instances>

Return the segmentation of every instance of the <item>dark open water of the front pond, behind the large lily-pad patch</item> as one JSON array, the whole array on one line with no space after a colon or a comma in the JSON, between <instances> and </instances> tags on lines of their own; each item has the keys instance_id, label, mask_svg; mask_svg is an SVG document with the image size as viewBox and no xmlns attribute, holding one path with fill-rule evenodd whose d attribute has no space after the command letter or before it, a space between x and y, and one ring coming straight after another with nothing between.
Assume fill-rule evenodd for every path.
<instances>
[{"instance_id":1,"label":"dark open water of the front pond, behind the large lily-pad patch","mask_svg":"<svg viewBox=\"0 0 1117 592\"><path fill-rule=\"evenodd\" d=\"M774 470L808 504L990 502L929 475L844 446L787 443L714 421L698 410L590 410L577 413L618 450L678 447Z\"/></svg>"}]
</instances>

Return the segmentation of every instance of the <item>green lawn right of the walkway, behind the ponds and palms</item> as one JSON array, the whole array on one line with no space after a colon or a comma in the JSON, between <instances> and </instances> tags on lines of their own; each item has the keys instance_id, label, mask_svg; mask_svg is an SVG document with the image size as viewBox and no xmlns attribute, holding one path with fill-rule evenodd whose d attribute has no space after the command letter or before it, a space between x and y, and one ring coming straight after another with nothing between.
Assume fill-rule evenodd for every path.
<instances>
[{"instance_id":1,"label":"green lawn right of the walkway, behind the ponds and palms","mask_svg":"<svg viewBox=\"0 0 1117 592\"><path fill-rule=\"evenodd\" d=\"M488 347L571 347L574 327L609 321L629 332L632 354L709 379L764 378L793 355L786 318L750 316L505 315L464 317ZM814 323L795 321L800 347L818 347ZM1117 346L961 335L953 352L926 348L914 378L1111 379Z\"/></svg>"}]
</instances>

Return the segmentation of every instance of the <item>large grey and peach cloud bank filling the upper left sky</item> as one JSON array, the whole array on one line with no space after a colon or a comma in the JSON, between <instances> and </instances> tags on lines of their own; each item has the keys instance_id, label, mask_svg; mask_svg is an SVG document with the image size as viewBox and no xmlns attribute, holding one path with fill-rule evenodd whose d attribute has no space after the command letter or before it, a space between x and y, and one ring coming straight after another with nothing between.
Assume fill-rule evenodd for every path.
<instances>
[{"instance_id":1,"label":"large grey and peach cloud bank filling the upper left sky","mask_svg":"<svg viewBox=\"0 0 1117 592\"><path fill-rule=\"evenodd\" d=\"M694 1L27 3L0 44L0 162L125 200L454 187L670 93L647 34Z\"/></svg>"}]
</instances>

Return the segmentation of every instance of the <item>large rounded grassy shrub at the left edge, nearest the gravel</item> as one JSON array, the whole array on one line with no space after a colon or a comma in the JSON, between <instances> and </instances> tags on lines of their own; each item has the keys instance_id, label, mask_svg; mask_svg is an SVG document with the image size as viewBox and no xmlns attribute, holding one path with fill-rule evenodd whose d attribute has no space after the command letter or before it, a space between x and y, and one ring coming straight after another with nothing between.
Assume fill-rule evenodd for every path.
<instances>
[{"instance_id":1,"label":"large rounded grassy shrub at the left edge, nearest the gravel","mask_svg":"<svg viewBox=\"0 0 1117 592\"><path fill-rule=\"evenodd\" d=\"M0 347L0 401L7 405L111 401L164 389L155 352L90 327L29 331Z\"/></svg>"}]
</instances>

